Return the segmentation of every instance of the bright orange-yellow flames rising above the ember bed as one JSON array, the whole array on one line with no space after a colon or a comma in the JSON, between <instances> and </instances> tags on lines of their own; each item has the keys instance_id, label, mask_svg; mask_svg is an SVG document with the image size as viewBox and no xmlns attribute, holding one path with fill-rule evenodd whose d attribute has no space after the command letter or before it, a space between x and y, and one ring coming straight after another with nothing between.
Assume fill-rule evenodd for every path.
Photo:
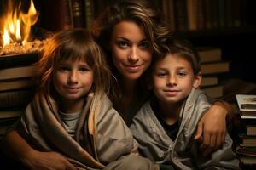
<instances>
[{"instance_id":1,"label":"bright orange-yellow flames rising above the ember bed","mask_svg":"<svg viewBox=\"0 0 256 170\"><path fill-rule=\"evenodd\" d=\"M22 12L20 7L21 3L14 8L12 0L8 1L7 14L3 16L0 25L0 31L3 32L3 47L13 42L21 42L22 44L28 42L31 26L38 20L39 14L32 0L27 13Z\"/></svg>"}]
</instances>

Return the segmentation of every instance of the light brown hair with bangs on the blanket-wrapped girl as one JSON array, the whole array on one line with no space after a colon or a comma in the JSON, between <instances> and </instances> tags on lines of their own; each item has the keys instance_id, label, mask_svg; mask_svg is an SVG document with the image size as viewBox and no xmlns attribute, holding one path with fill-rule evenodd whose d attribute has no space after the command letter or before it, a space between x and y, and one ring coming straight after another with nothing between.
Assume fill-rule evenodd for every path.
<instances>
[{"instance_id":1,"label":"light brown hair with bangs on the blanket-wrapped girl","mask_svg":"<svg viewBox=\"0 0 256 170\"><path fill-rule=\"evenodd\" d=\"M85 29L72 29L56 33L46 43L38 66L38 88L46 94L53 93L53 71L61 60L85 61L94 71L95 92L110 87L110 71L101 48L90 32Z\"/></svg>"}]
</instances>

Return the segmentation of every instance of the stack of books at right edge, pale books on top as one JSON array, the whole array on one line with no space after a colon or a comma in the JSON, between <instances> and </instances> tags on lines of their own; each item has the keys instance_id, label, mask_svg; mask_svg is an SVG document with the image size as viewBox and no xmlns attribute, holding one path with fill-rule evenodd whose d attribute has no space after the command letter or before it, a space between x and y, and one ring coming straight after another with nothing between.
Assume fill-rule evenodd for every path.
<instances>
[{"instance_id":1,"label":"stack of books at right edge, pale books on top","mask_svg":"<svg viewBox=\"0 0 256 170\"><path fill-rule=\"evenodd\" d=\"M236 146L236 154L241 167L256 168L256 95L236 94L236 101L241 116L240 141Z\"/></svg>"}]
</instances>

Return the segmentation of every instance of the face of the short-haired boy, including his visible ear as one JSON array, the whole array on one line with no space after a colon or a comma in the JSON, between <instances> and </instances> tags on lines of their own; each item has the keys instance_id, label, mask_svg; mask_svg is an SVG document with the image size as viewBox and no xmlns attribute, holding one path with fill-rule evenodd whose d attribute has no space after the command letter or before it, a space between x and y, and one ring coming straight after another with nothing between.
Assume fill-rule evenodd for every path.
<instances>
[{"instance_id":1,"label":"face of the short-haired boy, including his visible ear","mask_svg":"<svg viewBox=\"0 0 256 170\"><path fill-rule=\"evenodd\" d=\"M153 90L161 102L177 103L200 84L201 74L195 76L189 61L176 54L168 54L154 63Z\"/></svg>"}]
</instances>

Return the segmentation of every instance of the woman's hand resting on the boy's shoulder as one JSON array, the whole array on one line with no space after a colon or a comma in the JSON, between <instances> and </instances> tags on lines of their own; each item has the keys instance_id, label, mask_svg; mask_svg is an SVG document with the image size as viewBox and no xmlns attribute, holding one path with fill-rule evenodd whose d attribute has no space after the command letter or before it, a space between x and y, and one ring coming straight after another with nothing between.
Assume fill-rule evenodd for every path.
<instances>
[{"instance_id":1,"label":"woman's hand resting on the boy's shoulder","mask_svg":"<svg viewBox=\"0 0 256 170\"><path fill-rule=\"evenodd\" d=\"M198 123L194 139L201 141L200 149L204 156L217 150L224 143L227 113L226 105L217 101Z\"/></svg>"}]
</instances>

